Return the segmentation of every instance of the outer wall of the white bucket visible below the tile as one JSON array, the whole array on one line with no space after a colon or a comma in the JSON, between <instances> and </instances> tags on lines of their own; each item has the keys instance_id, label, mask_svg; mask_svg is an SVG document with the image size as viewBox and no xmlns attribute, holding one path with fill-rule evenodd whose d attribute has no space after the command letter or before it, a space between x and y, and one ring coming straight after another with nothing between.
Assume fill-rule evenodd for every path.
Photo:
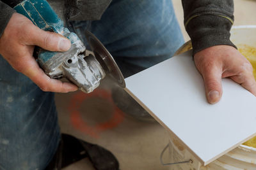
<instances>
[{"instance_id":1,"label":"outer wall of the white bucket visible below the tile","mask_svg":"<svg viewBox=\"0 0 256 170\"><path fill-rule=\"evenodd\" d=\"M170 170L255 170L256 148L240 145L222 157L214 160L207 166L195 159L195 157L180 145L178 141L170 138L169 144L170 162L182 162L192 160L192 163L175 164Z\"/></svg>"}]
</instances>

